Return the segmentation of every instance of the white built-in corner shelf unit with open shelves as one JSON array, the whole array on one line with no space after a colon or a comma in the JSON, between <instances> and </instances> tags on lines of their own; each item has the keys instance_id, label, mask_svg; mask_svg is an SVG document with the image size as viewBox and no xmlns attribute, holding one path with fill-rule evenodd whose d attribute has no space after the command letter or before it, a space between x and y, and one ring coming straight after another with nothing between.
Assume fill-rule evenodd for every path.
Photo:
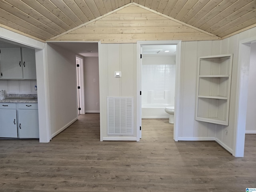
<instances>
[{"instance_id":1,"label":"white built-in corner shelf unit with open shelves","mask_svg":"<svg viewBox=\"0 0 256 192\"><path fill-rule=\"evenodd\" d=\"M228 125L233 55L198 58L196 120Z\"/></svg>"}]
</instances>

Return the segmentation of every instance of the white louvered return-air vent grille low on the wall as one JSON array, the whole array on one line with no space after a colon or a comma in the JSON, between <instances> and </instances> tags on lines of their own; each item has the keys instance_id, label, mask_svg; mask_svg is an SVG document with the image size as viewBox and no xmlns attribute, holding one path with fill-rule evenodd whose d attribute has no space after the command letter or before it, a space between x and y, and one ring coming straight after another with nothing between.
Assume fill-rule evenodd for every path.
<instances>
[{"instance_id":1,"label":"white louvered return-air vent grille low on the wall","mask_svg":"<svg viewBox=\"0 0 256 192\"><path fill-rule=\"evenodd\" d=\"M132 135L132 112L132 97L108 97L108 135Z\"/></svg>"}]
</instances>

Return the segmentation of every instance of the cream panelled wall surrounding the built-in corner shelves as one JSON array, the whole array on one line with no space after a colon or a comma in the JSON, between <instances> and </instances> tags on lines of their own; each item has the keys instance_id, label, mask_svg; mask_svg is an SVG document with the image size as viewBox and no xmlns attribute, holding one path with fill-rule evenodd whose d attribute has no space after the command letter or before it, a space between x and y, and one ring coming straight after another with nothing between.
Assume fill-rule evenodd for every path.
<instances>
[{"instance_id":1,"label":"cream panelled wall surrounding the built-in corner shelves","mask_svg":"<svg viewBox=\"0 0 256 192\"><path fill-rule=\"evenodd\" d=\"M229 152L234 152L239 41L253 37L255 34L256 28L252 28L224 40L182 42L179 140L216 140ZM194 120L198 56L218 54L233 54L229 126ZM227 135L225 134L226 130L228 131Z\"/></svg>"}]
</instances>

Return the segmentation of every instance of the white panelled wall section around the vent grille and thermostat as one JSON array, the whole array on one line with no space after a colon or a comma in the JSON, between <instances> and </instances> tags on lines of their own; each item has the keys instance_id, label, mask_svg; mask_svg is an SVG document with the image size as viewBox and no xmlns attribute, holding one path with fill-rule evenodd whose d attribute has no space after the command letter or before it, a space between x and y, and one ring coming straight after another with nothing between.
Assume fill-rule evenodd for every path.
<instances>
[{"instance_id":1,"label":"white panelled wall section around the vent grille and thermostat","mask_svg":"<svg viewBox=\"0 0 256 192\"><path fill-rule=\"evenodd\" d=\"M136 140L136 58L137 44L101 44L100 55L100 131L103 140ZM115 78L114 72L122 77ZM134 135L107 135L107 97L134 98Z\"/></svg>"}]
</instances>

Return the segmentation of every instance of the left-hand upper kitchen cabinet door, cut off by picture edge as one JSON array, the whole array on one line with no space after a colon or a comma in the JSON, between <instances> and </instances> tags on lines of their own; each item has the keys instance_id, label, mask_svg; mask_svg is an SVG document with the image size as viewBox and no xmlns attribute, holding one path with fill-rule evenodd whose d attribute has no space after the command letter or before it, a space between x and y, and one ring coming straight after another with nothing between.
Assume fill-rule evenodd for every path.
<instances>
[{"instance_id":1,"label":"left-hand upper kitchen cabinet door, cut off by picture edge","mask_svg":"<svg viewBox=\"0 0 256 192\"><path fill-rule=\"evenodd\" d=\"M20 48L0 48L2 79L22 79Z\"/></svg>"}]
</instances>

